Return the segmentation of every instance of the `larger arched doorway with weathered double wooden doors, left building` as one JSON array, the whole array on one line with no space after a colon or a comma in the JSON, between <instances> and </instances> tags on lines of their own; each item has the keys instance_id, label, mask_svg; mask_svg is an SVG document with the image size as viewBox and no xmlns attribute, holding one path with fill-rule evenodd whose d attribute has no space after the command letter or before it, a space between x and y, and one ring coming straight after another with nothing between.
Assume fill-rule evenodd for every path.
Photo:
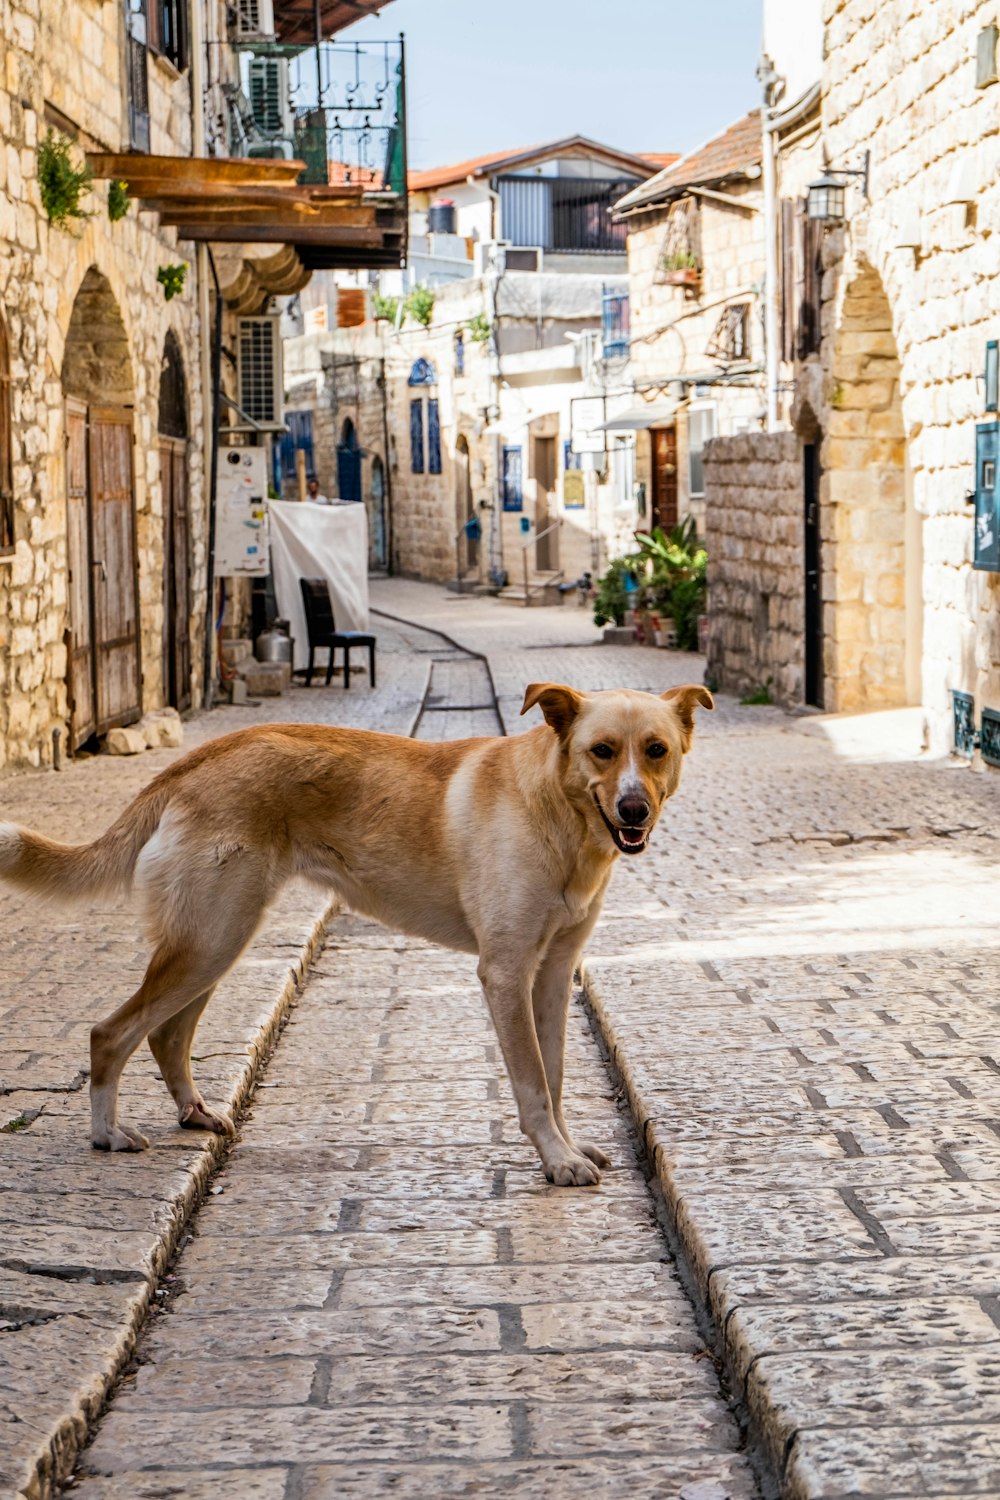
<instances>
[{"instance_id":1,"label":"larger arched doorway with weathered double wooden doors, left building","mask_svg":"<svg viewBox=\"0 0 1000 1500\"><path fill-rule=\"evenodd\" d=\"M93 266L73 303L66 400L70 748L142 712L129 344Z\"/></svg>"}]
</instances>

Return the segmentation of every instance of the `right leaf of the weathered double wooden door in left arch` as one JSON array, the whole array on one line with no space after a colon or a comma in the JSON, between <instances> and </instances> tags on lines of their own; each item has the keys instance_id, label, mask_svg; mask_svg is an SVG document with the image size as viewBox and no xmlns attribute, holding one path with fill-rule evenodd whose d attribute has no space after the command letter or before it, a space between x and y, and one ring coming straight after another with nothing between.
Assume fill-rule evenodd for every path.
<instances>
[{"instance_id":1,"label":"right leaf of the weathered double wooden door in left arch","mask_svg":"<svg viewBox=\"0 0 1000 1500\"><path fill-rule=\"evenodd\" d=\"M88 410L90 576L97 734L141 717L139 580L132 489L132 412Z\"/></svg>"}]
</instances>

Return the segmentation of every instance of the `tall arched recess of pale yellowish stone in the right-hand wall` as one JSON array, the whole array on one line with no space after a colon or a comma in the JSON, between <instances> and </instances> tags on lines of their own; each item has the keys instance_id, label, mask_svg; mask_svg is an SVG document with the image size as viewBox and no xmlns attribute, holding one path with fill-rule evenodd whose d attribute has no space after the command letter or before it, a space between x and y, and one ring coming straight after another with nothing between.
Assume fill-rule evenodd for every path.
<instances>
[{"instance_id":1,"label":"tall arched recess of pale yellowish stone in the right-hand wall","mask_svg":"<svg viewBox=\"0 0 1000 1500\"><path fill-rule=\"evenodd\" d=\"M900 357L882 278L847 286L822 447L825 706L921 700L922 537L913 507Z\"/></svg>"}]
</instances>

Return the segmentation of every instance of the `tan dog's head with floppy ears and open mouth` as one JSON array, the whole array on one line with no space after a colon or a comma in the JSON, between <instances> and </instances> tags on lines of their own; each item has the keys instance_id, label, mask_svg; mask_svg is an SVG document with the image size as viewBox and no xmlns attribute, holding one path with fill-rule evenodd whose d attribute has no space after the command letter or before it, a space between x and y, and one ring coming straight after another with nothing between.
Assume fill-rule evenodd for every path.
<instances>
[{"instance_id":1,"label":"tan dog's head with floppy ears and open mouth","mask_svg":"<svg viewBox=\"0 0 1000 1500\"><path fill-rule=\"evenodd\" d=\"M535 704L559 736L564 790L595 838L610 840L622 854L642 854L663 804L678 789L694 710L715 708L709 690L672 687L658 698L532 682L522 714Z\"/></svg>"}]
</instances>

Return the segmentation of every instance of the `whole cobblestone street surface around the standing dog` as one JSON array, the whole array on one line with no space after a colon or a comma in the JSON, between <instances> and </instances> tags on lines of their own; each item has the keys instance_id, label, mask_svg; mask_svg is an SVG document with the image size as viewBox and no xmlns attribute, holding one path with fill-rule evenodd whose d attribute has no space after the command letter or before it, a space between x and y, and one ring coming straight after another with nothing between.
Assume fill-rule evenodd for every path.
<instances>
[{"instance_id":1,"label":"whole cobblestone street surface around the standing dog","mask_svg":"<svg viewBox=\"0 0 1000 1500\"><path fill-rule=\"evenodd\" d=\"M702 674L597 646L576 608L403 580L373 604L486 652L508 732L537 722L528 681ZM376 694L295 688L187 746L279 716L409 734L435 657L417 732L489 730L468 663L375 626ZM291 1006L168 1269L217 1144L175 1130L142 1053L124 1095L153 1149L87 1144L87 1029L141 968L135 920L4 891L0 1484L70 1467L153 1300L76 1470L91 1500L750 1500L738 1418L763 1494L996 1500L1000 783L847 729L720 700L652 854L621 861L571 1024L571 1118L615 1158L595 1191L546 1186L472 960L349 916L324 944L322 898L291 892L198 1035L208 1096L238 1101ZM10 778L0 816L85 838L166 760Z\"/></svg>"}]
</instances>

